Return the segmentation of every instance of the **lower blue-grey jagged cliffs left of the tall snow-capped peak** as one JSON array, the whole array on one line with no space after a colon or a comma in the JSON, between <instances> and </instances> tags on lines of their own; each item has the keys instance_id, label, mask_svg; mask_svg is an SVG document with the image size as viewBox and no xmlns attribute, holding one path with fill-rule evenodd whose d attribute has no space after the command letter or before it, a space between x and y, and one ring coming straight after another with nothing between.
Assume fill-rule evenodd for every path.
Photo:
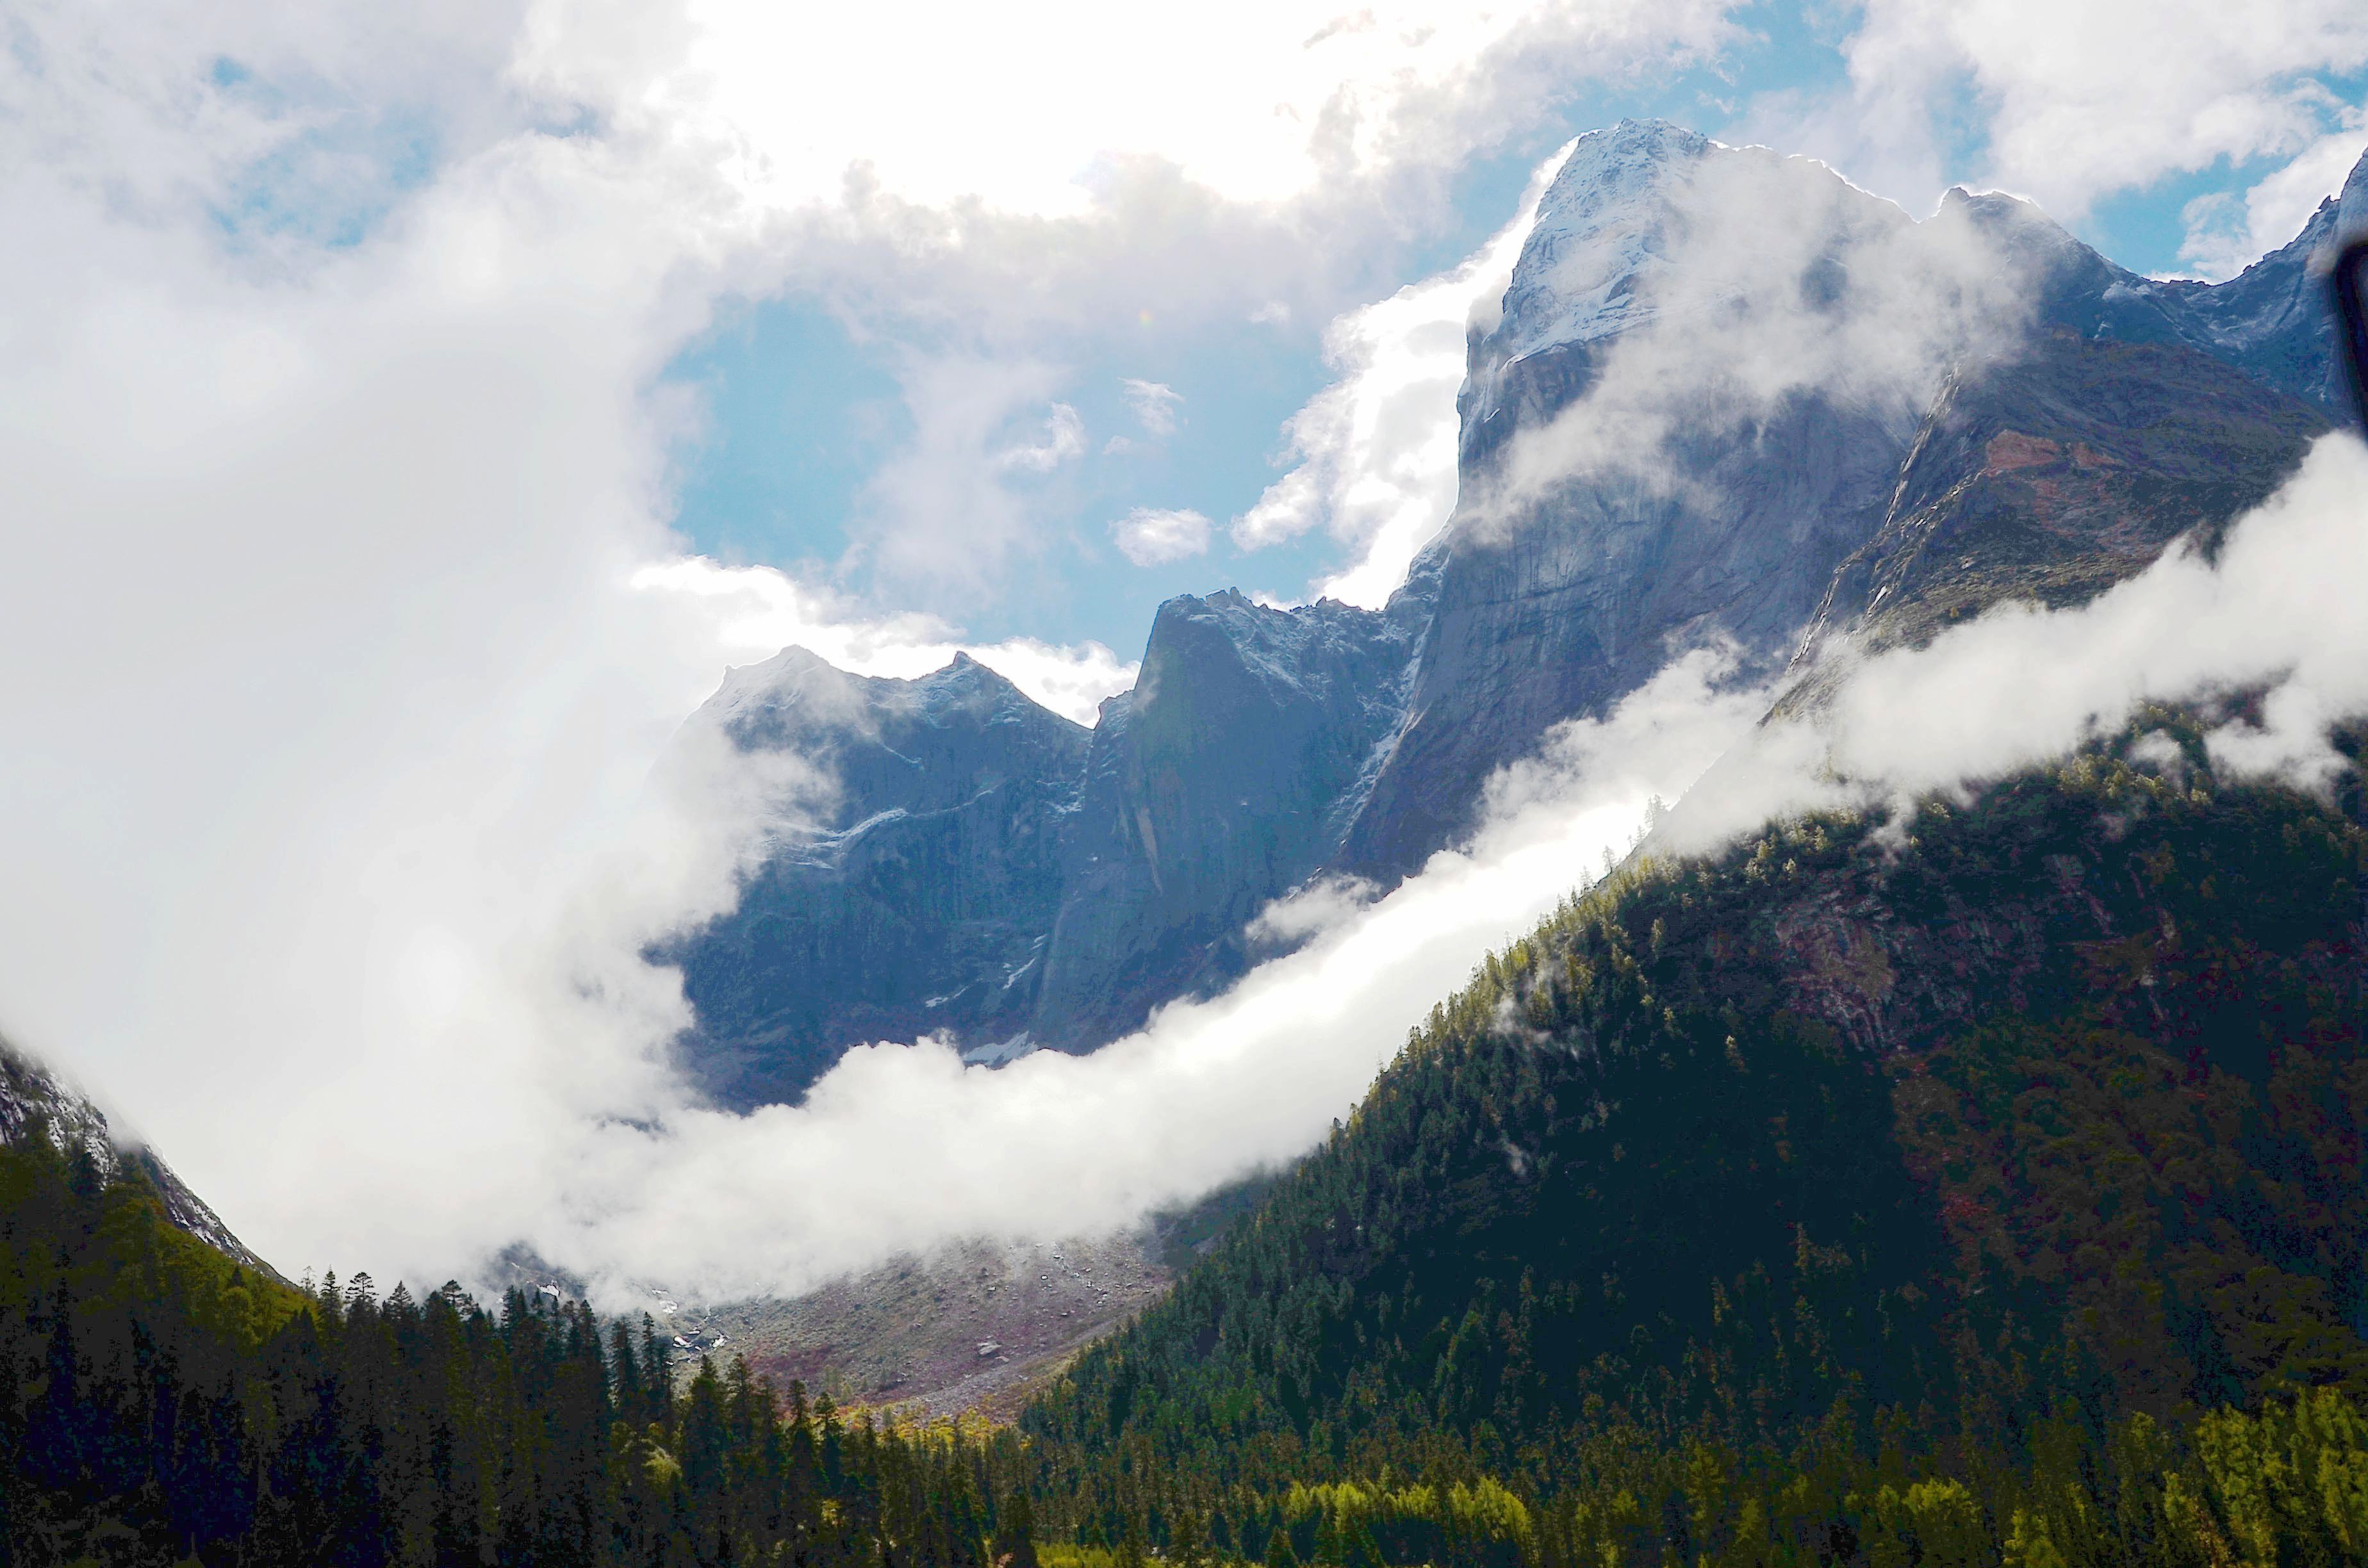
<instances>
[{"instance_id":1,"label":"lower blue-grey jagged cliffs left of the tall snow-capped peak","mask_svg":"<svg viewBox=\"0 0 2368 1568\"><path fill-rule=\"evenodd\" d=\"M1336 857L1426 613L1418 590L1388 611L1172 599L1092 732L966 656L921 680L803 649L736 670L701 722L836 793L729 917L661 950L699 1014L677 1056L753 1106L867 1040L1094 1049L1222 988L1257 910Z\"/></svg>"}]
</instances>

